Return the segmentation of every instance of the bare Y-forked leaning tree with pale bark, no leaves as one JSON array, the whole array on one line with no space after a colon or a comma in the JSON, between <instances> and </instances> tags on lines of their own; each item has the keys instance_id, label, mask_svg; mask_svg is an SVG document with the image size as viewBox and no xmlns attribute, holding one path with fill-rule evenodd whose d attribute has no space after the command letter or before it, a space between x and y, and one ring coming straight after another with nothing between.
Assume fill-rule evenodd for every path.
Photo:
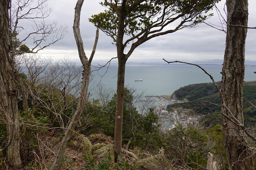
<instances>
[{"instance_id":1,"label":"bare Y-forked leaning tree with pale bark, no leaves","mask_svg":"<svg viewBox=\"0 0 256 170\"><path fill-rule=\"evenodd\" d=\"M87 89L89 86L89 79L91 75L91 61L93 60L93 56L95 54L98 38L99 38L99 29L97 29L96 32L96 38L95 38L95 43L93 46L93 51L91 53L90 58L88 59L85 55L85 50L83 46L83 40L81 38L80 34L80 14L81 14L81 8L83 6L84 0L78 0L76 7L75 7L75 19L74 19L74 25L73 25L73 30L74 30L74 35L75 39L77 42L77 48L78 48L78 53L80 60L83 64L83 81L82 81L82 87L81 87L81 93L79 97L79 102L77 105L77 110L75 111L73 117L69 121L68 127L65 130L65 134L62 137L58 152L56 154L56 157L54 159L54 162L52 163L52 166L49 168L50 170L55 170L58 169L61 164L62 164L62 158L64 156L65 150L67 148L67 144L75 130L75 127L78 125L79 118L81 117L84 108L87 104Z\"/></svg>"}]
</instances>

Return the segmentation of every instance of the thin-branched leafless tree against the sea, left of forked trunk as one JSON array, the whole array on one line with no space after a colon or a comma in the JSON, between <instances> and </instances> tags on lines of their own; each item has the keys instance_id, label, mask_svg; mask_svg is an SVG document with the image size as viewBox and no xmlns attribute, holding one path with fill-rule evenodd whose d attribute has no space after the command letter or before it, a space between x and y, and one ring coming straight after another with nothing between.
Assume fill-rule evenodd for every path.
<instances>
[{"instance_id":1,"label":"thin-branched leafless tree against the sea, left of forked trunk","mask_svg":"<svg viewBox=\"0 0 256 170\"><path fill-rule=\"evenodd\" d=\"M50 58L29 54L20 60L20 68L24 67L20 70L27 73L21 86L28 93L27 99L30 96L30 107L39 109L53 120L52 123L57 121L60 127L66 128L68 115L71 115L67 112L77 103L83 69L67 57L52 63Z\"/></svg>"}]
</instances>

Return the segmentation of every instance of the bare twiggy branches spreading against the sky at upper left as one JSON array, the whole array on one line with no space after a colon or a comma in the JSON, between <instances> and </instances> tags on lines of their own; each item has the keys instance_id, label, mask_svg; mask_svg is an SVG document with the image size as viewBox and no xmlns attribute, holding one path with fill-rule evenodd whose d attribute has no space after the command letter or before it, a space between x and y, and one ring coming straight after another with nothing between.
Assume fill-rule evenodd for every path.
<instances>
[{"instance_id":1,"label":"bare twiggy branches spreading against the sky at upper left","mask_svg":"<svg viewBox=\"0 0 256 170\"><path fill-rule=\"evenodd\" d=\"M23 53L36 53L49 45L61 40L67 34L67 26L57 26L54 21L46 24L45 19L50 16L51 8L48 8L48 0L12 0L9 9L10 17L10 38L12 40L11 57ZM32 26L32 30L27 30L20 23L26 22ZM26 34L23 32L26 31ZM19 39L19 34L22 39ZM32 40L33 47L25 48L24 43ZM23 44L23 46L22 46Z\"/></svg>"}]
</instances>

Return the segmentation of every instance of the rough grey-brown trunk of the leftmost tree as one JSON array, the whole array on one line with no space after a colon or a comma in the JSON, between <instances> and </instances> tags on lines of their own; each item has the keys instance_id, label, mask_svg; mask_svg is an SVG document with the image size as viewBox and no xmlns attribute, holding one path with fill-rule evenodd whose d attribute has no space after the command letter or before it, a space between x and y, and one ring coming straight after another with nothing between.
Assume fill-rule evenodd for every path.
<instances>
[{"instance_id":1,"label":"rough grey-brown trunk of the leftmost tree","mask_svg":"<svg viewBox=\"0 0 256 170\"><path fill-rule=\"evenodd\" d=\"M14 81L13 63L9 58L9 5L10 0L0 1L0 112L8 136L8 163L14 168L21 168L18 90Z\"/></svg>"}]
</instances>

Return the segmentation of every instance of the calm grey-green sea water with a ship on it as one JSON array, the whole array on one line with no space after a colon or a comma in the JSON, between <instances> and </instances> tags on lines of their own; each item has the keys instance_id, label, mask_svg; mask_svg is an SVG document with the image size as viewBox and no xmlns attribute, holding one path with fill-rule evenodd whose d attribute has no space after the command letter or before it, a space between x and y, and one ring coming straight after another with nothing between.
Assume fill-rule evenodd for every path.
<instances>
[{"instance_id":1,"label":"calm grey-green sea water with a ship on it","mask_svg":"<svg viewBox=\"0 0 256 170\"><path fill-rule=\"evenodd\" d=\"M117 64L111 64L103 77L100 75L106 72L106 68L98 71L100 75L96 71L93 72L95 77L89 89L93 89L100 79L106 87L116 89L117 67ZM222 65L201 65L201 67L210 73L215 81L221 80ZM254 71L256 67L246 67L244 81L255 81ZM135 82L136 79L143 79L143 81ZM150 95L171 95L180 87L208 82L212 82L210 77L194 65L127 64L125 69L125 85L138 91L146 91L146 94Z\"/></svg>"}]
</instances>

